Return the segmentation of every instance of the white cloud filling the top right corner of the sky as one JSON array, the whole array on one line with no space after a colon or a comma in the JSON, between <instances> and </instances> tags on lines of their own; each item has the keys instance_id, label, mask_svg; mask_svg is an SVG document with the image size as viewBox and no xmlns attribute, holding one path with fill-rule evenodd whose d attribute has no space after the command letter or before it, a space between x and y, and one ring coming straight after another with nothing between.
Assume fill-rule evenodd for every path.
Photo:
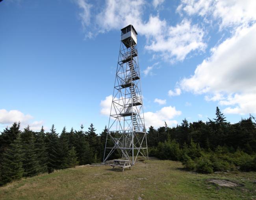
<instances>
[{"instance_id":1,"label":"white cloud filling the top right corner of the sky","mask_svg":"<svg viewBox=\"0 0 256 200\"><path fill-rule=\"evenodd\" d=\"M256 20L255 0L182 0L177 11L220 20L220 27L239 26Z\"/></svg>"}]
</instances>

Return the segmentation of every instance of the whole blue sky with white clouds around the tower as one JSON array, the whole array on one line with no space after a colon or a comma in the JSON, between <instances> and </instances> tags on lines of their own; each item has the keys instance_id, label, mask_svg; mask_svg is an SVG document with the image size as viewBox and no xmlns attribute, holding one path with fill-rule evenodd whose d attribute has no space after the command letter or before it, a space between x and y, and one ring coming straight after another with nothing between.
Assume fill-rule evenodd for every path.
<instances>
[{"instance_id":1,"label":"whole blue sky with white clouds around the tower","mask_svg":"<svg viewBox=\"0 0 256 200\"><path fill-rule=\"evenodd\" d=\"M145 124L256 113L256 2L4 0L0 131L108 125L120 29L138 32Z\"/></svg>"}]
</instances>

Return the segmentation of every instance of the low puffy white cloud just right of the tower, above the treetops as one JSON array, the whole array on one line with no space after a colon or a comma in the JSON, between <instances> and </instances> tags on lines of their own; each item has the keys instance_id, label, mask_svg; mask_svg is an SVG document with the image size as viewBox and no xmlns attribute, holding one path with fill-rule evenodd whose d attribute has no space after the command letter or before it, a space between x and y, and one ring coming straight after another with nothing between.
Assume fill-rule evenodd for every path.
<instances>
[{"instance_id":1,"label":"low puffy white cloud just right of the tower, above the treetops","mask_svg":"<svg viewBox=\"0 0 256 200\"><path fill-rule=\"evenodd\" d=\"M163 126L166 122L169 126L178 124L176 120L173 120L175 116L181 115L181 111L177 111L175 107L168 106L163 107L159 111L146 112L145 117L145 127L154 126L155 128Z\"/></svg>"}]
</instances>

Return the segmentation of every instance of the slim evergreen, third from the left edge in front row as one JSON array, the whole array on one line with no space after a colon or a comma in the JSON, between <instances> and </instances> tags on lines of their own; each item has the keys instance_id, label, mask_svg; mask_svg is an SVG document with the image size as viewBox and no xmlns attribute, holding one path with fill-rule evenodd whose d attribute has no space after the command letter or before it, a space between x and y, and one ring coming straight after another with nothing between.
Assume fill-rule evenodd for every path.
<instances>
[{"instance_id":1,"label":"slim evergreen, third from the left edge in front row","mask_svg":"<svg viewBox=\"0 0 256 200\"><path fill-rule=\"evenodd\" d=\"M37 160L39 162L39 173L46 173L47 169L47 150L46 150L46 143L45 143L45 130L42 126L41 131L37 135L37 140L35 142L35 148L37 153Z\"/></svg>"}]
</instances>

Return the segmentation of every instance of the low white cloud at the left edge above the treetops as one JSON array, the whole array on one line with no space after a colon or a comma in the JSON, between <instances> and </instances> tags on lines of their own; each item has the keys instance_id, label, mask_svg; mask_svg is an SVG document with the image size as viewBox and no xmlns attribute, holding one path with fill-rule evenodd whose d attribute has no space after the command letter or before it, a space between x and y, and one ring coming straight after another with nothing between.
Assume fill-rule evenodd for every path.
<instances>
[{"instance_id":1,"label":"low white cloud at the left edge above the treetops","mask_svg":"<svg viewBox=\"0 0 256 200\"><path fill-rule=\"evenodd\" d=\"M12 124L13 122L28 122L32 119L31 115L24 115L18 110L0 109L0 124Z\"/></svg>"}]
</instances>

